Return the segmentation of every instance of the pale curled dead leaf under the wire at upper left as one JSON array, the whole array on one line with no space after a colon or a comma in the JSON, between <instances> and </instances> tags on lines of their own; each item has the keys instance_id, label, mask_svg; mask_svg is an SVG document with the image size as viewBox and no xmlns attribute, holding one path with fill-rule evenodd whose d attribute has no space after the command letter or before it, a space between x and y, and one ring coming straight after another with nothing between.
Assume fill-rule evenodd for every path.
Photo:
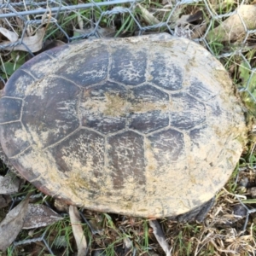
<instances>
[{"instance_id":1,"label":"pale curled dead leaf under the wire at upper left","mask_svg":"<svg viewBox=\"0 0 256 256\"><path fill-rule=\"evenodd\" d=\"M37 52L38 50L42 49L43 46L43 39L44 39L44 33L45 29L39 28L38 31L34 36L31 37L24 37L22 39L23 44L17 45L15 47L6 47L5 49L7 50L23 50L23 51L28 51L28 49L32 52ZM15 42L20 42L21 39L17 39ZM6 45L6 44L11 44L15 43L13 41L3 41L0 45ZM25 46L25 45L26 46Z\"/></svg>"}]
</instances>

